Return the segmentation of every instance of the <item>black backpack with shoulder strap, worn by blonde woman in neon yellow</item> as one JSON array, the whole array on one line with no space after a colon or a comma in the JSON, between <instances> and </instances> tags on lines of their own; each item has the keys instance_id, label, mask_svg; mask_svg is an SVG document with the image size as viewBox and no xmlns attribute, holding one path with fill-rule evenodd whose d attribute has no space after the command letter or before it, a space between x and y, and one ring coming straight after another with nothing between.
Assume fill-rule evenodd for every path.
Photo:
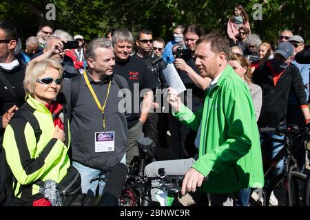
<instances>
[{"instance_id":1,"label":"black backpack with shoulder strap, worn by blonde woman in neon yellow","mask_svg":"<svg viewBox=\"0 0 310 220\"><path fill-rule=\"evenodd\" d=\"M27 120L34 130L37 142L39 142L42 131L33 111L34 109L26 102L16 113L14 113L11 121L14 120L14 118L24 118ZM16 203L14 202L14 197L12 195L15 188L12 188L12 183L16 181L16 179L14 178L14 175L12 175L12 171L6 162L6 152L2 146L3 137L1 137L0 141L0 206L15 206ZM14 186L17 186L17 184ZM19 192L21 192L21 190L22 187L19 188Z\"/></svg>"}]
</instances>

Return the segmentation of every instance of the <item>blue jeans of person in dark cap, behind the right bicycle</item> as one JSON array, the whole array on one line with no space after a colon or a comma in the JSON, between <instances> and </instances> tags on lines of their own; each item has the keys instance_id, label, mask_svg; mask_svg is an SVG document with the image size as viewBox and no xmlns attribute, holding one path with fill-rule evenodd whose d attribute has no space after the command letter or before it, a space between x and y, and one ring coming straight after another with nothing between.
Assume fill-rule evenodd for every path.
<instances>
[{"instance_id":1,"label":"blue jeans of person in dark cap, behind the right bicycle","mask_svg":"<svg viewBox=\"0 0 310 220\"><path fill-rule=\"evenodd\" d=\"M279 151L284 147L284 144L278 143L278 142L273 142L272 140L264 140L263 137L271 137L271 138L276 138L279 140L284 140L284 135L276 135L273 133L264 133L262 135L262 157L265 157L268 160L273 159L273 157L276 157ZM276 175L279 175L280 173L283 173L284 169L284 159L280 159L278 164L270 171L270 173L267 175L266 179L266 184L269 184L269 181L273 179L273 177L276 177Z\"/></svg>"}]
</instances>

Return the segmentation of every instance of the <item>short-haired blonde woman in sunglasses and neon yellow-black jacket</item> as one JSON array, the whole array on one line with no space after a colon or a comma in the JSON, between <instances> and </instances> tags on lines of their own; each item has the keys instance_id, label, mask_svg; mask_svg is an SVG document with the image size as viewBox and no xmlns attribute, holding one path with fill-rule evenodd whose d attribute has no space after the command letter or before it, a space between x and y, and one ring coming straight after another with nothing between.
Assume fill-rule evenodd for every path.
<instances>
[{"instance_id":1,"label":"short-haired blonde woman in sunglasses and neon yellow-black jacket","mask_svg":"<svg viewBox=\"0 0 310 220\"><path fill-rule=\"evenodd\" d=\"M61 89L62 75L63 68L57 61L45 59L28 65L23 81L25 104L4 133L3 148L12 170L12 195L17 206L61 206L56 184L61 188L79 175L70 166L68 156L68 119L61 104L54 101ZM78 189L81 184L76 184ZM45 194L46 189L52 192L51 196Z\"/></svg>"}]
</instances>

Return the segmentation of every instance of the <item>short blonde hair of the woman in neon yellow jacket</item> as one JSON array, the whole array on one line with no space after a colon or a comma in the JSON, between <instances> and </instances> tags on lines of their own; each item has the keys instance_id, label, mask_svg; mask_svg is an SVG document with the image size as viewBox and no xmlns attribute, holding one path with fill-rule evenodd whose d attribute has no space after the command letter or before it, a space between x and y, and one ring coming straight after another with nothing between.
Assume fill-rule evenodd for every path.
<instances>
[{"instance_id":1,"label":"short blonde hair of the woman in neon yellow jacket","mask_svg":"<svg viewBox=\"0 0 310 220\"><path fill-rule=\"evenodd\" d=\"M56 69L59 76L63 76L63 67L58 61L51 59L43 59L42 61L32 61L25 71L25 79L23 80L23 88L25 89L25 99L28 95L33 97L36 88L37 78L43 75L47 69Z\"/></svg>"}]
</instances>

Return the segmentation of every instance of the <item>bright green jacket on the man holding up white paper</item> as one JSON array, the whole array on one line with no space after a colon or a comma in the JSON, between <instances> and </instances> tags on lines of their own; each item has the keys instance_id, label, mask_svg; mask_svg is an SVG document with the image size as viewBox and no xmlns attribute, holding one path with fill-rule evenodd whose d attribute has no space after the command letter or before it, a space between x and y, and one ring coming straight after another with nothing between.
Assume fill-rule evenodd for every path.
<instances>
[{"instance_id":1,"label":"bright green jacket on the man holding up white paper","mask_svg":"<svg viewBox=\"0 0 310 220\"><path fill-rule=\"evenodd\" d=\"M209 177L203 183L204 192L264 186L253 102L247 85L230 65L216 86L205 91L203 107L193 113L182 105L174 115L194 131L201 122L199 157L192 168Z\"/></svg>"}]
</instances>

